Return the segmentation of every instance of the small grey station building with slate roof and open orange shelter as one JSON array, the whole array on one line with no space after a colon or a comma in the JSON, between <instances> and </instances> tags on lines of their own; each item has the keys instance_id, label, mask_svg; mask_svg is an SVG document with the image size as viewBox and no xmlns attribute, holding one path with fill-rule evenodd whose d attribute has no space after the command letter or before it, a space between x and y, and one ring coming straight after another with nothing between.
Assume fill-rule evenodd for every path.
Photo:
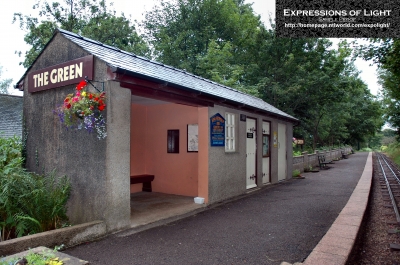
<instances>
[{"instance_id":1,"label":"small grey station building with slate roof and open orange shelter","mask_svg":"<svg viewBox=\"0 0 400 265\"><path fill-rule=\"evenodd\" d=\"M67 130L54 114L87 78L106 94L104 139ZM80 35L57 30L16 85L24 91L28 170L72 183L74 224L129 227L130 194L152 192L212 204L292 175L298 120L263 100Z\"/></svg>"}]
</instances>

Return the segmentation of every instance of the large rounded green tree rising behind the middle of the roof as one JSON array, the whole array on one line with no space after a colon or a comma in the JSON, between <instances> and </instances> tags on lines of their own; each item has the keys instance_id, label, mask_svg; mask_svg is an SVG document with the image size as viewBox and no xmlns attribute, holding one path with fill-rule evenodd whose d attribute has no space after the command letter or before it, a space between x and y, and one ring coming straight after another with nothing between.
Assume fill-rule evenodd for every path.
<instances>
[{"instance_id":1,"label":"large rounded green tree rising behind the middle of the roof","mask_svg":"<svg viewBox=\"0 0 400 265\"><path fill-rule=\"evenodd\" d=\"M240 69L252 60L249 51L262 27L260 18L244 0L160 0L160 6L145 17L146 38L158 61L221 80L230 77L222 77L226 69L221 67L212 70L216 68L212 55L223 53L229 58L220 56L218 63L226 59Z\"/></svg>"}]
</instances>

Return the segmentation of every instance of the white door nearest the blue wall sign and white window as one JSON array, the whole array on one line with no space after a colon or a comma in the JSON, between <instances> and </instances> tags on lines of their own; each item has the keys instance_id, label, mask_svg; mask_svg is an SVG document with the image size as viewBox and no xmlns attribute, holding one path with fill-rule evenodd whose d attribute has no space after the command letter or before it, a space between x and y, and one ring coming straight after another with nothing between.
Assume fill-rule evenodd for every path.
<instances>
[{"instance_id":1,"label":"white door nearest the blue wall sign and white window","mask_svg":"<svg viewBox=\"0 0 400 265\"><path fill-rule=\"evenodd\" d=\"M246 188L256 184L256 120L246 119Z\"/></svg>"}]
</instances>

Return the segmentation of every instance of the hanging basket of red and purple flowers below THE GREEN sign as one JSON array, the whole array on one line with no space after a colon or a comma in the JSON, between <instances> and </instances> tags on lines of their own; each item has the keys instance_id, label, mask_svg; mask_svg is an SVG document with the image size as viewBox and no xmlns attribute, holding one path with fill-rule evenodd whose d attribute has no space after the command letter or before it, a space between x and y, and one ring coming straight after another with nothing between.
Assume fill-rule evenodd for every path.
<instances>
[{"instance_id":1,"label":"hanging basket of red and purple flowers below THE GREEN sign","mask_svg":"<svg viewBox=\"0 0 400 265\"><path fill-rule=\"evenodd\" d=\"M68 129L82 128L89 133L96 132L98 139L107 136L106 121L102 112L106 108L106 93L86 91L87 82L76 86L75 94L68 94L62 106L55 110L61 123Z\"/></svg>"}]
</instances>

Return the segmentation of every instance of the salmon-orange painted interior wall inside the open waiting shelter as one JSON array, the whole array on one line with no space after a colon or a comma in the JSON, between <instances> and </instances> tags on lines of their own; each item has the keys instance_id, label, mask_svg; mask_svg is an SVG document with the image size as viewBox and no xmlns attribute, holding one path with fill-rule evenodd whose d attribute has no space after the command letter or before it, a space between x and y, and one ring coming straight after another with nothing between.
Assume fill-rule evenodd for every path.
<instances>
[{"instance_id":1,"label":"salmon-orange painted interior wall inside the open waiting shelter","mask_svg":"<svg viewBox=\"0 0 400 265\"><path fill-rule=\"evenodd\" d=\"M132 105L131 174L152 174L154 192L197 196L198 153L187 152L187 125L198 109L178 104ZM179 154L167 153L167 130L179 130ZM141 184L131 185L131 192Z\"/></svg>"}]
</instances>

